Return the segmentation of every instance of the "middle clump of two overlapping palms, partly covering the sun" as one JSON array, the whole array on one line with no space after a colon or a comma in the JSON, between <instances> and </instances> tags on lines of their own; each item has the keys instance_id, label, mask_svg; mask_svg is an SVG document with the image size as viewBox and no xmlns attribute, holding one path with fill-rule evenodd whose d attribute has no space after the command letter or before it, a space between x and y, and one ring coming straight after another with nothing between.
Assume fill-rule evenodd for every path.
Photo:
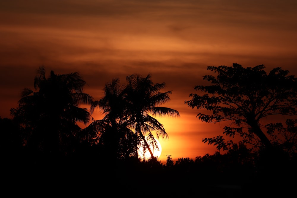
<instances>
[{"instance_id":1,"label":"middle clump of two overlapping palms, partly covering the sun","mask_svg":"<svg viewBox=\"0 0 297 198\"><path fill-rule=\"evenodd\" d=\"M110 149L117 147L114 153L118 152L116 154L118 157L138 156L138 145L142 140L151 157L154 158L149 148L149 145L152 145L154 149L157 148L152 132L155 132L158 139L160 136L167 138L168 135L163 125L152 116L179 116L179 113L167 107L160 107L170 100L171 91L160 92L165 87L165 83L154 84L150 74L146 77L130 75L126 80L127 85L120 85L119 79L113 79L105 85L104 96L94 101L90 107L91 113L99 108L105 116L103 121L94 121L90 126L95 129L94 127L98 127L98 124L105 124L105 128L99 130L100 138L105 145L113 142ZM110 130L106 130L106 126ZM134 129L134 132L131 129ZM109 135L104 135L104 133L109 133ZM103 139L107 136L111 138ZM123 148L128 149L127 153L119 153L119 150L125 150Z\"/></svg>"}]
</instances>

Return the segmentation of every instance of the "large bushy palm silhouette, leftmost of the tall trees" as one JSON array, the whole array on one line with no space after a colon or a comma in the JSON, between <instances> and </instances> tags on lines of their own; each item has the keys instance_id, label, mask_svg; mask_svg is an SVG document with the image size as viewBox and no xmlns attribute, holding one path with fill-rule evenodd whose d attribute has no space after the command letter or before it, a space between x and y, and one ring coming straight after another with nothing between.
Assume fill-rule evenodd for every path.
<instances>
[{"instance_id":1,"label":"large bushy palm silhouette, leftmost of the tall trees","mask_svg":"<svg viewBox=\"0 0 297 198\"><path fill-rule=\"evenodd\" d=\"M81 131L78 122L91 118L80 104L91 104L93 98L83 92L86 82L78 72L45 76L39 67L34 88L24 88L19 105L12 109L14 120L27 134L26 145L42 154L65 155L73 150L75 136Z\"/></svg>"}]
</instances>

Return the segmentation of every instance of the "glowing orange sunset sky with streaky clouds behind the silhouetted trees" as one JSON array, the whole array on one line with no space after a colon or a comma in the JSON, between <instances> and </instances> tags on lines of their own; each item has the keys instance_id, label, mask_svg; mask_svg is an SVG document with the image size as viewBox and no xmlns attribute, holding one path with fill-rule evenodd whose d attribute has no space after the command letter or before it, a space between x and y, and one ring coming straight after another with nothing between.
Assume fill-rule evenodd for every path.
<instances>
[{"instance_id":1,"label":"glowing orange sunset sky with streaky clouds behind the silhouetted trees","mask_svg":"<svg viewBox=\"0 0 297 198\"><path fill-rule=\"evenodd\" d=\"M295 0L11 0L0 1L0 116L11 118L35 70L80 72L84 92L99 100L113 78L152 75L172 91L164 106L179 118L157 118L169 135L161 162L213 154L202 142L224 123L202 123L185 100L214 75L207 66L275 67L297 75ZM252 79L251 79L252 80ZM101 119L99 112L93 114Z\"/></svg>"}]
</instances>

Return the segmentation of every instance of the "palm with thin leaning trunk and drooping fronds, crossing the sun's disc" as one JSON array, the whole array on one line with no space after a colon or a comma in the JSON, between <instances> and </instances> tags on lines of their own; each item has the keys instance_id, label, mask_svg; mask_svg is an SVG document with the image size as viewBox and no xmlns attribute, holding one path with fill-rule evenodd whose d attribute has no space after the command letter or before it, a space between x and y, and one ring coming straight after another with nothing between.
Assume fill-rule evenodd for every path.
<instances>
[{"instance_id":1,"label":"palm with thin leaning trunk and drooping fronds, crossing the sun's disc","mask_svg":"<svg viewBox=\"0 0 297 198\"><path fill-rule=\"evenodd\" d=\"M129 104L128 111L129 119L132 121L132 128L135 129L135 134L143 140L151 154L151 158L154 159L149 143L153 148L156 148L157 142L152 132L155 131L157 139L160 136L167 139L168 134L165 132L163 125L152 116L179 116L177 110L160 106L170 100L169 94L172 92L160 92L161 89L165 88L165 83L154 84L151 81L150 74L146 77L133 74L127 76L126 80L128 85L125 99Z\"/></svg>"}]
</instances>

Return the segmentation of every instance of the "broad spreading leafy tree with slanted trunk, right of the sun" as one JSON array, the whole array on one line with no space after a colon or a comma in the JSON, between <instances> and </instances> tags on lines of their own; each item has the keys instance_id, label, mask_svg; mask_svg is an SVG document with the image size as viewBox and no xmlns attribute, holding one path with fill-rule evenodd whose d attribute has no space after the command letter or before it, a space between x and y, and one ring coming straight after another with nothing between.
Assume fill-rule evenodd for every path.
<instances>
[{"instance_id":1,"label":"broad spreading leafy tree with slanted trunk, right of the sun","mask_svg":"<svg viewBox=\"0 0 297 198\"><path fill-rule=\"evenodd\" d=\"M208 66L207 70L217 73L217 76L203 76L203 80L211 82L211 85L198 85L195 90L206 94L190 94L192 99L185 104L200 110L197 117L203 122L228 121L223 134L229 137L237 134L244 143L270 149L274 145L271 135L277 126L263 124L263 120L276 115L280 115L279 119L296 116L297 79L280 67L272 69L269 74L264 69L264 65L243 68L236 63L232 67ZM209 114L206 113L208 111ZM290 128L293 129L292 126ZM293 133L296 134L296 130ZM219 149L227 149L228 143L232 142L225 142L222 137L205 138L203 141L214 143ZM287 140L296 147L296 135Z\"/></svg>"}]
</instances>

